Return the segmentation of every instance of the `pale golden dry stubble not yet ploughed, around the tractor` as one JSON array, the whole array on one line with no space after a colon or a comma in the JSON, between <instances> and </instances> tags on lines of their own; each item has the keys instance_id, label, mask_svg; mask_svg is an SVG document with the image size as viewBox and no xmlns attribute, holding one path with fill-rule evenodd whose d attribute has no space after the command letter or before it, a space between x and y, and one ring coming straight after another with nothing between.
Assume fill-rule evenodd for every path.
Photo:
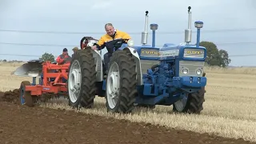
<instances>
[{"instance_id":1,"label":"pale golden dry stubble not yet ploughed, around the tractor","mask_svg":"<svg viewBox=\"0 0 256 144\"><path fill-rule=\"evenodd\" d=\"M14 66L2 64L0 90L18 88L24 79L10 75ZM206 102L201 115L173 114L172 106L157 106L154 110L136 109L134 114L107 114L105 99L96 98L92 110L81 110L86 114L98 114L118 119L128 119L132 122L150 122L162 126L174 127L182 130L193 130L199 133L212 133L227 138L244 138L256 142L256 69L236 68L220 69L207 67L208 78L206 86ZM11 79L7 81L6 79ZM65 108L67 100L53 99L42 103L50 108Z\"/></svg>"}]
</instances>

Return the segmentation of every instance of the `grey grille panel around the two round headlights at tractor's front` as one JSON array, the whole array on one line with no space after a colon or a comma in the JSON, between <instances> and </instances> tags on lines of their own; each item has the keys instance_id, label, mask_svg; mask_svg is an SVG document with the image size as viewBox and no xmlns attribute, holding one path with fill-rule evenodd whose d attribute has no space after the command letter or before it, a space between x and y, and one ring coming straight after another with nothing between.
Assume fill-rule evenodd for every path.
<instances>
[{"instance_id":1,"label":"grey grille panel around the two round headlights at tractor's front","mask_svg":"<svg viewBox=\"0 0 256 144\"><path fill-rule=\"evenodd\" d=\"M202 77L203 74L203 67L205 62L194 62L194 61L180 61L179 62L179 76L199 76ZM182 70L186 68L189 70L187 74L183 74ZM202 70L200 75L196 74L196 70Z\"/></svg>"}]
</instances>

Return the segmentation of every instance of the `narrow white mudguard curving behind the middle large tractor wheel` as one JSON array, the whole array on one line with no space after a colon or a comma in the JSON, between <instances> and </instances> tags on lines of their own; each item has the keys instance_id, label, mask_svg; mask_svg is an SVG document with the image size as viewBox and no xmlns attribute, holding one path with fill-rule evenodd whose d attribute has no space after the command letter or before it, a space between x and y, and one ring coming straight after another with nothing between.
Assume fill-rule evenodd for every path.
<instances>
[{"instance_id":1,"label":"narrow white mudguard curving behind the middle large tractor wheel","mask_svg":"<svg viewBox=\"0 0 256 144\"><path fill-rule=\"evenodd\" d=\"M130 51L131 54L133 54L133 58L134 58L134 60L136 62L137 84L138 85L142 85L143 84L143 80L142 80L142 66L141 66L141 60L139 58L137 50L135 50L134 48L131 48L131 47L126 47L123 50L128 50L128 51Z\"/></svg>"}]
</instances>

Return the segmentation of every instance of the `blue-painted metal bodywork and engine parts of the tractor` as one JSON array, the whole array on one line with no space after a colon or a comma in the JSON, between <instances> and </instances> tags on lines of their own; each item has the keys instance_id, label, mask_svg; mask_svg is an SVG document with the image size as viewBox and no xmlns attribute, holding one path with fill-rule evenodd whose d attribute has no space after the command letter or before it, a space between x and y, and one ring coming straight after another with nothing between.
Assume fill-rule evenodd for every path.
<instances>
[{"instance_id":1,"label":"blue-painted metal bodywork and engine parts of the tractor","mask_svg":"<svg viewBox=\"0 0 256 144\"><path fill-rule=\"evenodd\" d=\"M197 34L199 43L200 30ZM127 44L122 44L119 50L126 48ZM185 98L186 93L194 93L206 86L205 77L190 77L178 75L180 61L205 62L206 48L198 45L174 45L165 43L162 47L155 46L155 33L153 30L152 46L132 46L140 55L141 60L158 60L160 64L154 70L147 70L147 74L142 74L143 85L137 86L138 96L136 103L148 105L172 105L179 99ZM158 51L179 50L177 55L165 57L142 57L141 49L148 48ZM184 58L186 49L204 50L204 58ZM106 82L103 82L103 90L106 90Z\"/></svg>"}]
</instances>

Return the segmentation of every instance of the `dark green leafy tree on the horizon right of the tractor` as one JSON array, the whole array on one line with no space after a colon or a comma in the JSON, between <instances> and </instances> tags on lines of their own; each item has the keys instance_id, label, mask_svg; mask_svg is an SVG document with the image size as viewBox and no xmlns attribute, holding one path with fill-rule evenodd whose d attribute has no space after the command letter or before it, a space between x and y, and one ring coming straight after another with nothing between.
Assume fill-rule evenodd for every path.
<instances>
[{"instance_id":1,"label":"dark green leafy tree on the horizon right of the tractor","mask_svg":"<svg viewBox=\"0 0 256 144\"><path fill-rule=\"evenodd\" d=\"M209 66L222 66L226 67L230 64L231 60L226 50L218 50L214 42L202 41L200 46L206 47L206 63Z\"/></svg>"}]
</instances>

